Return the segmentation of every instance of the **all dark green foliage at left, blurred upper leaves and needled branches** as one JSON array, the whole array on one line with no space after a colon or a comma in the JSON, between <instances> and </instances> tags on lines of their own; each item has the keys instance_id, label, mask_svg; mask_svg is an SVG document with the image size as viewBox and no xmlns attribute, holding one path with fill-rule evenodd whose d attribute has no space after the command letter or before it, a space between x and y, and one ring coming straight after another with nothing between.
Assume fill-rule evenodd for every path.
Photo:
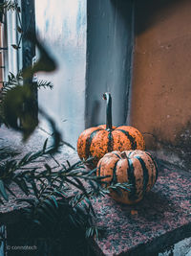
<instances>
[{"instance_id":1,"label":"all dark green foliage at left, blurred upper leaves and needled branches","mask_svg":"<svg viewBox=\"0 0 191 256\"><path fill-rule=\"evenodd\" d=\"M4 11L16 11L17 14L20 12L16 2L12 1L6 1L0 8L4 8ZM21 23L17 30L21 34L20 42L23 35ZM27 32L25 36L38 48L40 58L18 75L10 73L8 82L3 87L0 105L1 120L8 127L20 131L24 140L38 127L38 119L34 118L31 106L34 101L33 86L53 88L52 83L47 81L32 83L32 77L39 71L53 72L56 69L56 62L36 35ZM12 47L18 49L19 44ZM53 119L42 108L39 107L38 111L53 129L53 144L48 147L46 140L40 151L29 152L22 157L17 152L12 154L7 150L6 154L0 150L0 203L9 201L10 196L18 202L26 203L26 220L39 226L45 231L44 234L51 234L52 238L67 238L67 232L72 232L73 238L73 232L76 230L74 228L83 230L87 237L98 236L100 228L96 226L93 199L105 197L110 189L120 191L128 190L129 187L119 183L107 187L108 184L103 181L105 177L96 176L96 170L85 170L83 161L73 165L68 161L59 163L53 154L63 142L61 134ZM52 158L56 166L52 166L47 157ZM11 189L12 185L18 187L27 197L18 198Z\"/></svg>"}]
</instances>

